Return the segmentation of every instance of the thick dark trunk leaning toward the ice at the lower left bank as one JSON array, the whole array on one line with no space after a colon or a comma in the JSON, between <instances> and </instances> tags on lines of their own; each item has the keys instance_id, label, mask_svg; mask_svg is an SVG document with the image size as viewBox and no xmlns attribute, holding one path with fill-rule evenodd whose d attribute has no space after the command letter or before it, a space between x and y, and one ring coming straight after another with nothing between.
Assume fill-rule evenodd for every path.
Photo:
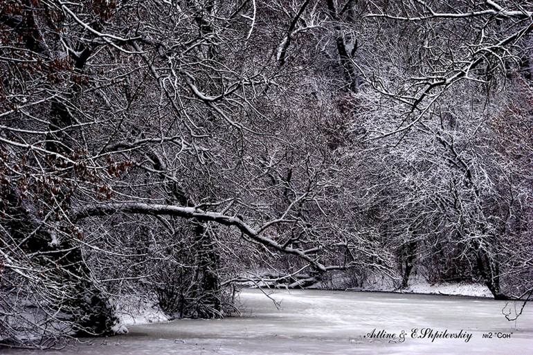
<instances>
[{"instance_id":1,"label":"thick dark trunk leaning toward the ice at the lower left bank","mask_svg":"<svg viewBox=\"0 0 533 355\"><path fill-rule=\"evenodd\" d=\"M89 266L84 262L80 246L73 239L57 241L57 230L46 227L37 217L37 209L11 188L3 195L1 206L10 217L7 231L12 241L19 244L22 253L33 255L32 262L44 270L44 284L62 285L61 294L47 300L47 306L62 312L63 320L71 322L73 331L80 336L111 334L118 322L114 308L92 281Z\"/></svg>"}]
</instances>

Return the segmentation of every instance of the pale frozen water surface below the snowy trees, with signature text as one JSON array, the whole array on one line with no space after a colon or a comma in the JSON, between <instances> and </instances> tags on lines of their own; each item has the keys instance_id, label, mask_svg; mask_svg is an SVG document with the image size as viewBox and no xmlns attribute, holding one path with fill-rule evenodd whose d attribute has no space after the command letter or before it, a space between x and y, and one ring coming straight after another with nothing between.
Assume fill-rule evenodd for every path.
<instances>
[{"instance_id":1,"label":"pale frozen water surface below the snowy trees, with signature text","mask_svg":"<svg viewBox=\"0 0 533 355\"><path fill-rule=\"evenodd\" d=\"M533 354L533 304L509 322L506 302L476 298L278 290L276 309L260 290L240 297L242 318L136 325L125 336L38 354Z\"/></svg>"}]
</instances>

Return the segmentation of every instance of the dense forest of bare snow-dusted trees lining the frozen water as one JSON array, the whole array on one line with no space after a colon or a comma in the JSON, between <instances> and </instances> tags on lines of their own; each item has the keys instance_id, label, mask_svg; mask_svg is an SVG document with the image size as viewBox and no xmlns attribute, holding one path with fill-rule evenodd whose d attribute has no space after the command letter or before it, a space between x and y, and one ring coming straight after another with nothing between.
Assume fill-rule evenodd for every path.
<instances>
[{"instance_id":1,"label":"dense forest of bare snow-dusted trees lining the frozen water","mask_svg":"<svg viewBox=\"0 0 533 355\"><path fill-rule=\"evenodd\" d=\"M532 1L1 0L0 344L242 284L527 300L532 31Z\"/></svg>"}]
</instances>

